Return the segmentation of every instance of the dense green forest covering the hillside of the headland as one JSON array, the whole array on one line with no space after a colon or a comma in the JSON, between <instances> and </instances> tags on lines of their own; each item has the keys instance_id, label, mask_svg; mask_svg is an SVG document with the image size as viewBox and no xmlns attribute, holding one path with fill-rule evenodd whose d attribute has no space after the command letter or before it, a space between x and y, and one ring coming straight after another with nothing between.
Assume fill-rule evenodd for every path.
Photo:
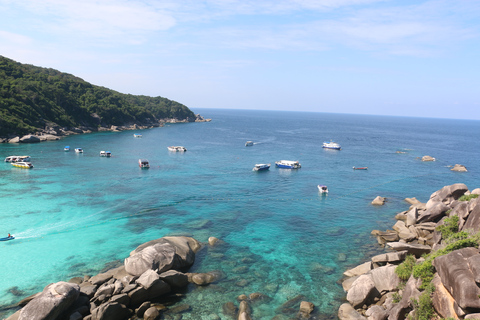
<instances>
[{"instance_id":1,"label":"dense green forest covering the hillside of the headland","mask_svg":"<svg viewBox=\"0 0 480 320\"><path fill-rule=\"evenodd\" d=\"M71 74L0 56L0 136L33 133L45 125L98 127L195 118L183 104L122 94Z\"/></svg>"}]
</instances>

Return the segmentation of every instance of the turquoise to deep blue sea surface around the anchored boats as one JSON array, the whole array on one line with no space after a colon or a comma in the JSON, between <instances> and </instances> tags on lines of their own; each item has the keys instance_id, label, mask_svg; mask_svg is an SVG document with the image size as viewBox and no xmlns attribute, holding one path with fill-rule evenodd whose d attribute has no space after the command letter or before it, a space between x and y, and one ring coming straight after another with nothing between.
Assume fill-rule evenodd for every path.
<instances>
[{"instance_id":1,"label":"turquoise to deep blue sea surface around the anchored boats","mask_svg":"<svg viewBox=\"0 0 480 320\"><path fill-rule=\"evenodd\" d=\"M272 319L298 295L315 305L316 319L333 318L345 298L342 273L384 252L370 232L391 228L408 209L405 198L426 202L459 182L480 187L480 121L193 111L212 121L0 144L2 160L30 155L35 166L0 163L0 236L16 237L0 242L0 318L49 283L97 274L167 235L223 241L197 254L191 272L223 277L190 285L178 302L191 307L183 319L230 319L222 305L253 292L271 298L252 306L254 319ZM331 139L342 150L323 149ZM254 145L245 147L247 140ZM170 145L188 151L172 153ZM437 161L420 161L424 155ZM141 170L139 158L151 168ZM275 168L278 160L302 168ZM256 163L272 167L254 172ZM450 171L457 163L468 172ZM386 204L372 206L376 196Z\"/></svg>"}]
</instances>

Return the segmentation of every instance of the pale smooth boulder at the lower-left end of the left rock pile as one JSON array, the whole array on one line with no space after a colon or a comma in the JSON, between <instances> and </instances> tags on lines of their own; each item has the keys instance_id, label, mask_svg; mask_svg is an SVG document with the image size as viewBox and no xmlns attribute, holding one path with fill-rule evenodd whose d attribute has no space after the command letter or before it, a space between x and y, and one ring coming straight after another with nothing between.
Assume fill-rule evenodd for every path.
<instances>
[{"instance_id":1,"label":"pale smooth boulder at the lower-left end of the left rock pile","mask_svg":"<svg viewBox=\"0 0 480 320\"><path fill-rule=\"evenodd\" d=\"M21 311L18 320L53 320L67 310L80 294L78 284L57 282L49 284L42 293Z\"/></svg>"}]
</instances>

